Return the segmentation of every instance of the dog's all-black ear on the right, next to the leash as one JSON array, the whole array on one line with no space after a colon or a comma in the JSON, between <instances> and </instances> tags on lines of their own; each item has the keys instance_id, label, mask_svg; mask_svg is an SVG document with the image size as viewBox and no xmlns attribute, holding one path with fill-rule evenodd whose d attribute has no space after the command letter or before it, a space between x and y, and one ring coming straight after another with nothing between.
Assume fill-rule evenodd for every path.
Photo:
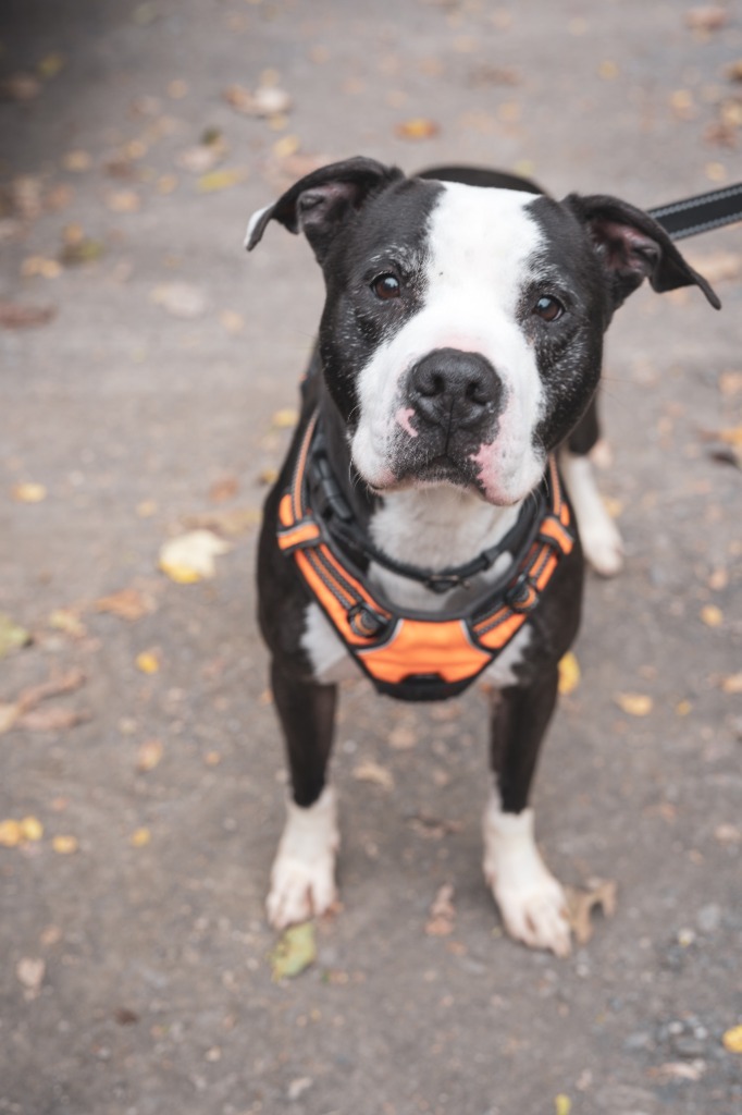
<instances>
[{"instance_id":1,"label":"dog's all-black ear on the right, next to the leash","mask_svg":"<svg viewBox=\"0 0 742 1115\"><path fill-rule=\"evenodd\" d=\"M715 310L721 302L703 275L685 262L653 217L617 197L569 194L564 204L585 226L606 275L613 308L648 279L662 293L677 287L700 287Z\"/></svg>"}]
</instances>

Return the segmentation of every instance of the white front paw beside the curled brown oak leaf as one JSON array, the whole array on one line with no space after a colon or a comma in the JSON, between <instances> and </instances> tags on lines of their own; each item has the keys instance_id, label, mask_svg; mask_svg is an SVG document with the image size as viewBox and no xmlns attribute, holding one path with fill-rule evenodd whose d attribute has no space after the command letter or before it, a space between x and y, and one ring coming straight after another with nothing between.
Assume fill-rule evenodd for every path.
<instances>
[{"instance_id":1,"label":"white front paw beside the curled brown oak leaf","mask_svg":"<svg viewBox=\"0 0 742 1115\"><path fill-rule=\"evenodd\" d=\"M492 799L484 834L485 878L510 937L531 949L569 956L566 896L536 847L533 809L505 814Z\"/></svg>"}]
</instances>

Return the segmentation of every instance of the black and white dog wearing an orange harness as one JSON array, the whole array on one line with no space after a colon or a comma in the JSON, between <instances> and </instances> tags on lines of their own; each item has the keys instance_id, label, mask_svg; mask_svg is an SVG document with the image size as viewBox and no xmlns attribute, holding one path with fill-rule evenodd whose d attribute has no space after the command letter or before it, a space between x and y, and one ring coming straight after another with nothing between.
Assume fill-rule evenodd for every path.
<instances>
[{"instance_id":1,"label":"black and white dog wearing an orange harness","mask_svg":"<svg viewBox=\"0 0 742 1115\"><path fill-rule=\"evenodd\" d=\"M603 334L645 278L719 301L640 210L490 172L407 178L352 158L256 213L248 249L272 220L306 235L326 301L260 544L292 786L269 917L283 927L335 899L336 683L361 670L393 696L439 698L481 676L495 694L485 875L510 934L564 956L564 893L528 793L579 623L583 546L603 572L621 562L586 457Z\"/></svg>"}]
</instances>

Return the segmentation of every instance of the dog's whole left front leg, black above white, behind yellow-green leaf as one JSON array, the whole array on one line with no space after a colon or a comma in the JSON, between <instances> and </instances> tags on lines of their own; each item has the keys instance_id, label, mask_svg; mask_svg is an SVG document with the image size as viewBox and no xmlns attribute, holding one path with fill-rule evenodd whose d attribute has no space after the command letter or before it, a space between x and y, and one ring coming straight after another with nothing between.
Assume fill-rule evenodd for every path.
<instances>
[{"instance_id":1,"label":"dog's whole left front leg, black above white, behind yellow-green leaf","mask_svg":"<svg viewBox=\"0 0 742 1115\"><path fill-rule=\"evenodd\" d=\"M271 923L282 929L324 913L335 899L340 837L334 792L325 779L336 687L297 680L275 661L271 677L291 775L286 823L266 902Z\"/></svg>"}]
</instances>

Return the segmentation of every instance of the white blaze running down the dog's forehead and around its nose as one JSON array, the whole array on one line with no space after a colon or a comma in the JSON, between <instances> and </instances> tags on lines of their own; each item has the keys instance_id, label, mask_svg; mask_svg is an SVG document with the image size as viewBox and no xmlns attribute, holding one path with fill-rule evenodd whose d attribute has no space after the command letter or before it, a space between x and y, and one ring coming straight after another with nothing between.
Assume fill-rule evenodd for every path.
<instances>
[{"instance_id":1,"label":"white blaze running down the dog's forehead and around its nose","mask_svg":"<svg viewBox=\"0 0 742 1115\"><path fill-rule=\"evenodd\" d=\"M360 420L353 460L372 487L389 484L399 438L414 415L400 400L410 368L435 349L479 352L499 375L506 406L492 444L476 454L488 501L514 503L538 482L544 454L534 447L543 387L518 306L543 243L527 211L533 195L446 183L431 214L422 307L377 349L358 379Z\"/></svg>"}]
</instances>

